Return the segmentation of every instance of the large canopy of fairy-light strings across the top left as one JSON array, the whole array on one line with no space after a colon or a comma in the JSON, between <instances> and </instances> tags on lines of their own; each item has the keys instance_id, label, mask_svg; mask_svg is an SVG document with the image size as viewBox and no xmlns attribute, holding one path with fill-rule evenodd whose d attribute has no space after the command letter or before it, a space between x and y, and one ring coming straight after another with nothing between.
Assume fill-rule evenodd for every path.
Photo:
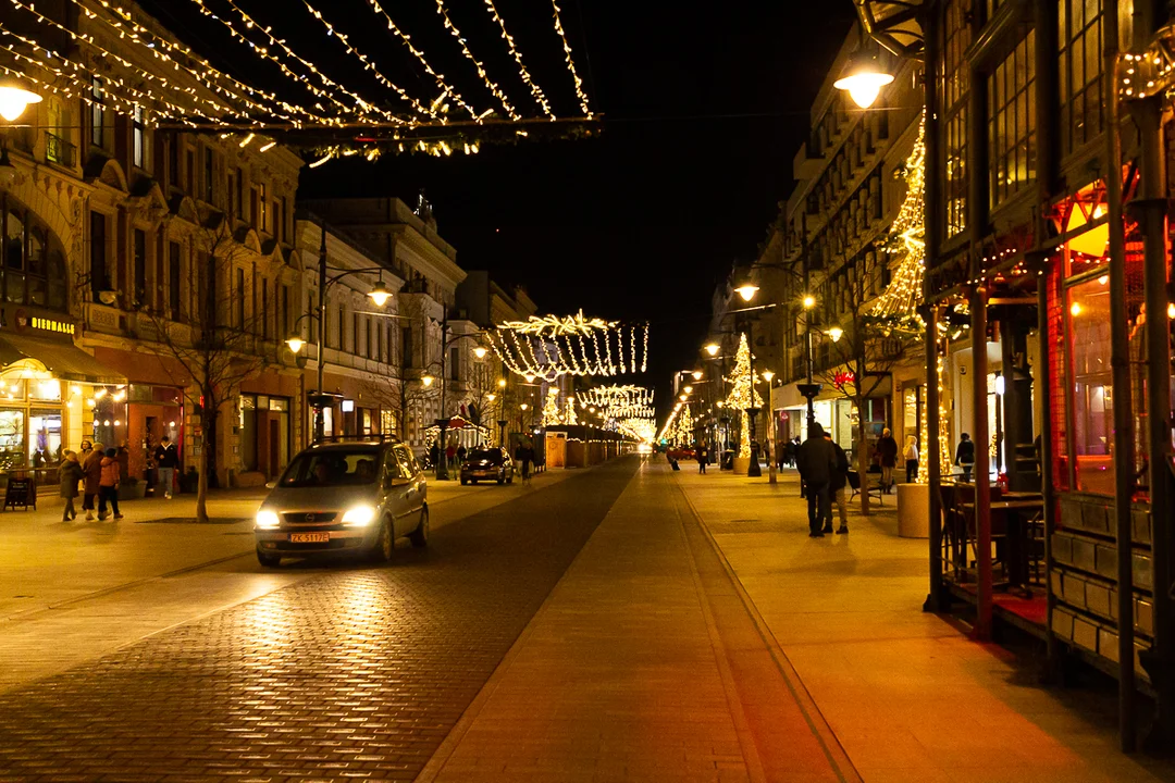
<instances>
[{"instance_id":1,"label":"large canopy of fairy-light strings across the top left","mask_svg":"<svg viewBox=\"0 0 1175 783\"><path fill-rule=\"evenodd\" d=\"M495 106L478 108L474 100L466 100L458 88L459 79L446 75L446 69L438 67L435 53L425 52L394 18L392 9L378 0L351 1L368 6L381 26L387 27L389 38L405 48L405 56L436 85L436 92L414 95L409 88L397 83L381 69L380 59L372 56L384 53L364 52L354 35L337 23L338 20L354 19L354 14L347 16L340 11L338 20L333 21L328 13L334 13L335 7L324 12L317 0L302 0L298 5L321 27L324 38L335 39L336 46L362 66L365 86L347 83L331 75L307 52L295 50L298 45L287 40L280 23L258 19L246 11L239 0L217 0L215 9L212 0L190 0L194 13L212 20L217 29L234 43L247 48L258 62L276 68L280 79L296 86L302 99L280 96L276 92L247 83L240 75L217 69L188 46L169 39L166 31L135 7L113 0L66 1L78 9L87 22L86 27L69 29L41 13L34 0L8 0L21 20L35 21L73 46L69 52L56 50L52 43L45 43L48 40L46 36L27 33L14 23L0 23L0 52L11 55L8 62L0 65L0 70L28 81L42 94L80 99L115 114L134 115L147 127L181 126L241 136L262 130L302 133L288 141L296 144L298 139L310 140L302 146L311 149L314 163L321 166L325 161L351 155L374 160L389 150L436 156L476 154L484 143L511 143L526 137L530 131L524 129L524 124L559 121L492 0L484 0L485 12L499 32L509 59L517 66L522 87L529 90L538 107L537 116L528 116L519 110L504 82L486 68L486 60L474 54L445 0L435 0L435 19L443 26L446 39L451 38L457 43L461 56L455 62L466 63L477 74L476 81L463 82L464 89L469 85L484 85L490 100L499 109ZM582 116L569 116L562 122L570 121L571 124L552 126L550 131L543 129L543 134L590 135L591 128L584 123L595 121L597 115L591 110L577 69L560 8L553 1L551 26L563 48L564 65L571 76L575 102ZM301 46L306 48L304 43ZM159 66L146 65L148 58ZM368 92L371 83L378 89ZM462 113L459 121L450 115L450 104ZM464 120L464 115L469 120ZM354 137L344 133L349 128L356 129ZM363 133L365 128L387 128L390 133L376 137L375 134ZM508 130L503 133L502 128ZM315 130L320 131L317 136L313 135ZM397 133L405 130L410 131L408 136ZM323 139L322 133L330 137ZM597 342L610 339L603 333L593 338ZM624 347L629 346L617 346L616 350ZM632 366L631 362L623 364L627 357L618 357L604 345L593 346L593 350L595 356L603 359L604 372L617 373L622 366ZM589 363L583 351L577 360ZM595 362L591 364L600 372Z\"/></svg>"}]
</instances>

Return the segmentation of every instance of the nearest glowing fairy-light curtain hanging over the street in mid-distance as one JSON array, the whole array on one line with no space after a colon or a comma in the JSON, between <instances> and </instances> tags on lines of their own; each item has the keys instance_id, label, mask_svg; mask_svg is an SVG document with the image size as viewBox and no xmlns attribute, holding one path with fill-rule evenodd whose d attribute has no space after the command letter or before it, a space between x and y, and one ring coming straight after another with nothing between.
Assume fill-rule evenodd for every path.
<instances>
[{"instance_id":1,"label":"nearest glowing fairy-light curtain hanging over the street in mid-distance","mask_svg":"<svg viewBox=\"0 0 1175 783\"><path fill-rule=\"evenodd\" d=\"M625 326L586 318L583 312L508 320L486 333L486 343L511 372L546 382L563 376L610 378L647 369L647 325Z\"/></svg>"}]
</instances>

